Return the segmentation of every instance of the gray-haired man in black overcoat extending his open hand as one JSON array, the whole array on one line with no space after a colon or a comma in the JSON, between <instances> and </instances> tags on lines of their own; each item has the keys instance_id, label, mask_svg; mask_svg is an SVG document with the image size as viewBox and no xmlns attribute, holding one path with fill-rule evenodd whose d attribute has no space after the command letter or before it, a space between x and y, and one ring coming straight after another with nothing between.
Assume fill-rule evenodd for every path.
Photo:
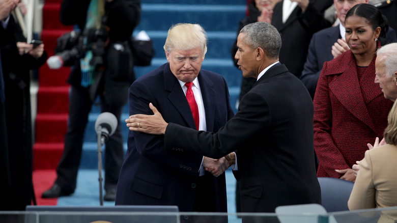
<instances>
[{"instance_id":1,"label":"gray-haired man in black overcoat extending his open hand","mask_svg":"<svg viewBox=\"0 0 397 223\"><path fill-rule=\"evenodd\" d=\"M217 133L164 121L154 103L149 104L154 115L130 116L127 126L136 132L164 135L166 151L226 156L237 165L234 174L240 181L242 212L321 204L314 159L313 102L303 83L278 62L278 31L266 22L250 23L240 31L237 46L239 69L244 77L254 77L257 82L242 97L236 116ZM237 160L231 153L235 150Z\"/></svg>"}]
</instances>

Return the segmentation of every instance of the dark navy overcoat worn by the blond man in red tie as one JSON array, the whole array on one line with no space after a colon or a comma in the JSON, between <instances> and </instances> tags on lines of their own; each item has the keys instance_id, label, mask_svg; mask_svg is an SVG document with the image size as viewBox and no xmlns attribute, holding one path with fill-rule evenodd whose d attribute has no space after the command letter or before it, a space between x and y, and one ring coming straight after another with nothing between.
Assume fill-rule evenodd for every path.
<instances>
[{"instance_id":1,"label":"dark navy overcoat worn by the blond man in red tie","mask_svg":"<svg viewBox=\"0 0 397 223\"><path fill-rule=\"evenodd\" d=\"M198 74L208 131L217 131L234 116L224 78L201 70ZM149 103L164 120L196 128L186 96L166 63L138 78L129 89L130 115L153 114ZM226 212L225 176L208 172L198 176L203 156L181 150L165 150L164 137L130 131L121 169L116 205L177 205L180 211ZM200 196L197 191L206 191Z\"/></svg>"}]
</instances>

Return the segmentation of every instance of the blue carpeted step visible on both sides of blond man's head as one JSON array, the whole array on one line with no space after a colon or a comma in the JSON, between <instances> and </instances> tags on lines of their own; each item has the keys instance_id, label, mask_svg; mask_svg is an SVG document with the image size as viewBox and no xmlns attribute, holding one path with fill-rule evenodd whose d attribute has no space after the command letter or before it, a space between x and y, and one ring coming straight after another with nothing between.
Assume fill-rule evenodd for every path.
<instances>
[{"instance_id":1,"label":"blue carpeted step visible on both sides of blond man's head","mask_svg":"<svg viewBox=\"0 0 397 223\"><path fill-rule=\"evenodd\" d=\"M134 35L140 30L136 30ZM156 51L155 58L165 59L164 43L167 37L167 31L151 31L145 30L149 37L153 40L153 47ZM231 48L237 38L237 28L232 32L208 32L208 50L207 59L230 59L232 60Z\"/></svg>"}]
</instances>

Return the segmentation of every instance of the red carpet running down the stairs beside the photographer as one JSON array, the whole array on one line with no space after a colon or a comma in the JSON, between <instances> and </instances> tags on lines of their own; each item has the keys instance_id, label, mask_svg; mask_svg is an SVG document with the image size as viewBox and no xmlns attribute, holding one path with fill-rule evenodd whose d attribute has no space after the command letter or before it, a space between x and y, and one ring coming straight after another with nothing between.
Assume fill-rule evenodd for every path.
<instances>
[{"instance_id":1,"label":"red carpet running down the stairs beside the photographer","mask_svg":"<svg viewBox=\"0 0 397 223\"><path fill-rule=\"evenodd\" d=\"M60 22L62 0L46 0L43 6L41 39L48 56L54 54L56 39L72 30ZM53 184L55 169L64 149L67 129L70 68L51 70L47 64L39 70L35 144L33 146L33 185L38 205L56 205L57 199L42 199L43 191Z\"/></svg>"}]
</instances>

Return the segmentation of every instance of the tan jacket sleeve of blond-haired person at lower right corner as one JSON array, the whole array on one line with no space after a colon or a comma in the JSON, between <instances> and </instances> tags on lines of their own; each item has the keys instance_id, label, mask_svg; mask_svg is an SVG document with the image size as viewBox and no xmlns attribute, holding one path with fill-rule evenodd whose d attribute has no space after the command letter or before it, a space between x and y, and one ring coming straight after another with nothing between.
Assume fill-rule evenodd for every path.
<instances>
[{"instance_id":1,"label":"tan jacket sleeve of blond-haired person at lower right corner","mask_svg":"<svg viewBox=\"0 0 397 223\"><path fill-rule=\"evenodd\" d=\"M376 208L375 185L373 182L373 168L370 151L365 152L365 157L360 163L356 181L348 201L349 210Z\"/></svg>"}]
</instances>

